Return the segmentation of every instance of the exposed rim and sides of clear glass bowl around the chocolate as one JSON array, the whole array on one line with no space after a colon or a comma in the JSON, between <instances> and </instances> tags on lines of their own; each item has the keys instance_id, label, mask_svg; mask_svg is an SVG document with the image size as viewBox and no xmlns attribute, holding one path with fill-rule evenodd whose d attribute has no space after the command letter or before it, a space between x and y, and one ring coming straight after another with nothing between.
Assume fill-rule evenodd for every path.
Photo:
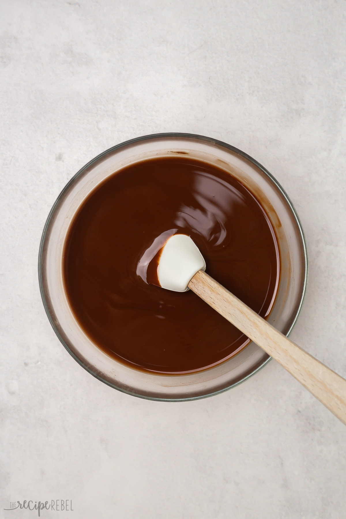
<instances>
[{"instance_id":1,"label":"exposed rim and sides of clear glass bowl around the chocolate","mask_svg":"<svg viewBox=\"0 0 346 519\"><path fill-rule=\"evenodd\" d=\"M124 166L182 155L210 162L232 174L264 207L278 238L281 261L278 292L268 321L283 334L293 329L306 291L307 249L293 204L274 177L239 149L200 135L161 133L124 142L91 160L64 187L47 218L38 258L41 296L54 332L81 366L115 389L151 400L209 397L242 383L270 360L251 342L227 361L197 373L163 375L137 370L99 349L81 329L68 304L62 274L63 247L81 203L107 176Z\"/></svg>"}]
</instances>

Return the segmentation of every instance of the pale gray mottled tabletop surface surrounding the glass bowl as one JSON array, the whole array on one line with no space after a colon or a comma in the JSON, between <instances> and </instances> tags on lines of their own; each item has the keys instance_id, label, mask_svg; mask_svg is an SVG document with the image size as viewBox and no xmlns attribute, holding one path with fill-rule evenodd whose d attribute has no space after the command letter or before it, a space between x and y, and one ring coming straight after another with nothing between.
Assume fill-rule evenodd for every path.
<instances>
[{"instance_id":1,"label":"pale gray mottled tabletop surface surrounding the glass bowl","mask_svg":"<svg viewBox=\"0 0 346 519\"><path fill-rule=\"evenodd\" d=\"M80 519L346 516L346 428L272 361L187 403L84 371L41 304L37 253L70 177L135 136L226 141L284 186L310 277L293 340L346 376L343 0L1 0L1 499Z\"/></svg>"}]
</instances>

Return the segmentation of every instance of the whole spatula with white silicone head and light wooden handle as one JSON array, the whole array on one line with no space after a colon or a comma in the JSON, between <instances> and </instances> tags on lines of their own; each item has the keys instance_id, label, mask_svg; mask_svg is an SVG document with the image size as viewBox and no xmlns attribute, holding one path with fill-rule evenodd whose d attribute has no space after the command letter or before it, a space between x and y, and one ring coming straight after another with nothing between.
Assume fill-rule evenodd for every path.
<instances>
[{"instance_id":1,"label":"whole spatula with white silicone head and light wooden handle","mask_svg":"<svg viewBox=\"0 0 346 519\"><path fill-rule=\"evenodd\" d=\"M164 289L191 289L252 339L346 424L346 380L301 349L205 273L205 261L189 236L176 234L161 250L158 281Z\"/></svg>"}]
</instances>

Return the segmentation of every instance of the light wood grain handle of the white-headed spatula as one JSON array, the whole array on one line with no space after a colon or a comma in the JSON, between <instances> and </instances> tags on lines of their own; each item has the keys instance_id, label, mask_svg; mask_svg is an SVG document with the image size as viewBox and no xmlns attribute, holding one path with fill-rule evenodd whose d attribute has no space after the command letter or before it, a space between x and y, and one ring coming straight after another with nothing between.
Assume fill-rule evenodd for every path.
<instances>
[{"instance_id":1,"label":"light wood grain handle of the white-headed spatula","mask_svg":"<svg viewBox=\"0 0 346 519\"><path fill-rule=\"evenodd\" d=\"M278 361L346 424L346 380L299 348L202 270L193 276L188 286Z\"/></svg>"}]
</instances>

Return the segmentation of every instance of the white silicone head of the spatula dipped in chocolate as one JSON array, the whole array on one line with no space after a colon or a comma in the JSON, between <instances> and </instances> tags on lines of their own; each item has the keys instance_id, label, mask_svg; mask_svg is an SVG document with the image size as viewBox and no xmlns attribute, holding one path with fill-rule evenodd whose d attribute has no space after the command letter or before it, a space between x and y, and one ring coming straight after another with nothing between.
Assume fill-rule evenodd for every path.
<instances>
[{"instance_id":1,"label":"white silicone head of the spatula dipped in chocolate","mask_svg":"<svg viewBox=\"0 0 346 519\"><path fill-rule=\"evenodd\" d=\"M186 292L188 283L199 270L205 270L205 261L191 238L185 234L169 238L162 249L158 268L162 288Z\"/></svg>"}]
</instances>

